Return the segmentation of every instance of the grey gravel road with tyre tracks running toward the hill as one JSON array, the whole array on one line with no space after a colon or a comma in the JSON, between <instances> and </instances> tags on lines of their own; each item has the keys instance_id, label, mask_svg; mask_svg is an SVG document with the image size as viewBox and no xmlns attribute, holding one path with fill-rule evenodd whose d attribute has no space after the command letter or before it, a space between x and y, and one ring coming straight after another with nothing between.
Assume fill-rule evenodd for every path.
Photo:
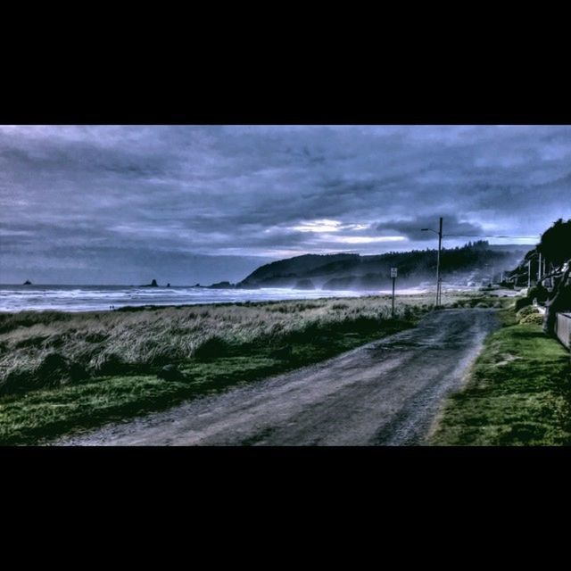
<instances>
[{"instance_id":1,"label":"grey gravel road with tyre tracks running toward the hill","mask_svg":"<svg viewBox=\"0 0 571 571\"><path fill-rule=\"evenodd\" d=\"M418 445L462 385L495 310L441 310L418 327L63 445Z\"/></svg>"}]
</instances>

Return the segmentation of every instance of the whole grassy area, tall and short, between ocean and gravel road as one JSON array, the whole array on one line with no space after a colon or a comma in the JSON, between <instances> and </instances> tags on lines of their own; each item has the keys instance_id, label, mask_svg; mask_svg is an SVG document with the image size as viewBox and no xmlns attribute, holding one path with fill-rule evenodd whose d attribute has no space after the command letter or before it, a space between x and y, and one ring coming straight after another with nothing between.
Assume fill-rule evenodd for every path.
<instances>
[{"instance_id":1,"label":"whole grassy area, tall and short, between ocean and gravel road","mask_svg":"<svg viewBox=\"0 0 571 571\"><path fill-rule=\"evenodd\" d=\"M395 319L386 296L0 315L0 444L40 443L325 360L414 327L431 301L401 296ZM182 376L157 377L165 364Z\"/></svg>"}]
</instances>

